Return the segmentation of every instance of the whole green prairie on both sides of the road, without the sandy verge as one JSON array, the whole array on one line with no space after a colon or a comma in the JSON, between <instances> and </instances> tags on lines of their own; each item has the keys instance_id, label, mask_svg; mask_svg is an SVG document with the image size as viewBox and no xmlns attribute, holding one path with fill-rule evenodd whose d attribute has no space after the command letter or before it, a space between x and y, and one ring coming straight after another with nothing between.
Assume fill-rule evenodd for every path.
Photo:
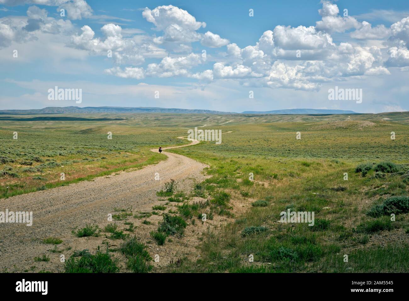
<instances>
[{"instance_id":1,"label":"whole green prairie on both sides of the road, without the sandy verge","mask_svg":"<svg viewBox=\"0 0 409 301\"><path fill-rule=\"evenodd\" d=\"M155 163L166 157L149 149L186 143L177 137L187 128L232 131L220 145L171 150L210 166L205 195L218 202L223 193L229 210L216 214L232 222L203 234L199 260L180 258L168 271L409 272L408 112L42 117L0 121L0 197L62 185L61 172L70 183ZM236 213L233 200L254 204ZM396 220L382 209L388 201L403 208ZM279 223L287 209L315 212L315 225Z\"/></svg>"}]
</instances>

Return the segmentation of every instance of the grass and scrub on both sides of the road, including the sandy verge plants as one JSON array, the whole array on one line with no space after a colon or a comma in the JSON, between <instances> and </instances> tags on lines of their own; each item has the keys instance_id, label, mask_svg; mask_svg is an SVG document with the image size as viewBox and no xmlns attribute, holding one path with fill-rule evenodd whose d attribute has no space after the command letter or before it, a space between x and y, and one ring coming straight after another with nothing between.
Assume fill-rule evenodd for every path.
<instances>
[{"instance_id":1,"label":"grass and scrub on both sides of the road, including the sandy verge plants","mask_svg":"<svg viewBox=\"0 0 409 301\"><path fill-rule=\"evenodd\" d=\"M408 117L398 114L398 123L357 115L352 118L375 125L348 127L346 122L337 128L331 120L339 116L240 116L221 127L232 133L223 134L220 145L202 142L169 150L209 165L208 179L192 187L171 180L150 209L116 208L112 222L101 228L74 229L74 237L99 237L107 248L74 251L65 271L408 272ZM166 157L148 149L183 143L174 138L185 133L178 127L213 121L211 128L224 121L222 116L188 118L186 125L186 119L169 115L137 116L110 127L81 122L81 129L50 122L64 133L64 142L49 129L38 131L34 122L24 127L3 122L0 140L9 142L14 130L19 139L0 145L0 196L156 163ZM136 133L135 124L144 129ZM158 124L160 131L154 128ZM106 139L107 131L114 140ZM391 131L398 133L396 140L390 139ZM60 172L67 177L64 183ZM314 212L314 225L281 223L280 213L287 210ZM143 229L149 229L144 241L139 238ZM200 256L155 267L151 248L179 244L192 229L200 229L195 246ZM55 244L56 253L56 245L65 243L53 237L42 242Z\"/></svg>"}]
</instances>

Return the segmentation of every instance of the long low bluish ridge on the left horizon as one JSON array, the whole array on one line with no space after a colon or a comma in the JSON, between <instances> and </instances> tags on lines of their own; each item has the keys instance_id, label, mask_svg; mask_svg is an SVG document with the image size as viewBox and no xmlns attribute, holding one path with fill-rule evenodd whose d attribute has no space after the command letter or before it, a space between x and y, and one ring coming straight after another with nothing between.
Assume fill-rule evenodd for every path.
<instances>
[{"instance_id":1,"label":"long low bluish ridge on the left horizon","mask_svg":"<svg viewBox=\"0 0 409 301\"><path fill-rule=\"evenodd\" d=\"M149 107L121 107L121 106L47 106L44 109L33 110L1 110L0 114L72 114L72 113L196 113L196 114L237 114L235 112L220 112L211 110L166 109Z\"/></svg>"}]
</instances>

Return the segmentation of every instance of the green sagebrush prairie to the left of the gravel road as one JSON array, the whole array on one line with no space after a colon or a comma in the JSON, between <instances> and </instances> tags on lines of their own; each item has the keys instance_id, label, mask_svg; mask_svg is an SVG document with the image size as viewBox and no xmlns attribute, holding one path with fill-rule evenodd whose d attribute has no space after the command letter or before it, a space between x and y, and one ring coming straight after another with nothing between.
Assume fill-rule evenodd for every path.
<instances>
[{"instance_id":1,"label":"green sagebrush prairie to the left of the gravel road","mask_svg":"<svg viewBox=\"0 0 409 301\"><path fill-rule=\"evenodd\" d=\"M152 147L182 143L172 129L161 133L107 121L0 124L0 198L140 168L166 158Z\"/></svg>"}]
</instances>

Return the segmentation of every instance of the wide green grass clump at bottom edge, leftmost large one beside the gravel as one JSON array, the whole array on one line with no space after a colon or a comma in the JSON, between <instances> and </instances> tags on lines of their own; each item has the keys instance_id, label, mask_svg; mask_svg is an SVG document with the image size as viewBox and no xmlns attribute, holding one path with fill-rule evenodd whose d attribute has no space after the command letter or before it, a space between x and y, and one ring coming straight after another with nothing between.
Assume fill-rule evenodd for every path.
<instances>
[{"instance_id":1,"label":"wide green grass clump at bottom edge, leftmost large one beside the gravel","mask_svg":"<svg viewBox=\"0 0 409 301\"><path fill-rule=\"evenodd\" d=\"M65 261L65 273L115 273L118 270L116 260L112 260L108 248L103 253L99 246L94 255L83 250L81 255L73 254Z\"/></svg>"}]
</instances>

